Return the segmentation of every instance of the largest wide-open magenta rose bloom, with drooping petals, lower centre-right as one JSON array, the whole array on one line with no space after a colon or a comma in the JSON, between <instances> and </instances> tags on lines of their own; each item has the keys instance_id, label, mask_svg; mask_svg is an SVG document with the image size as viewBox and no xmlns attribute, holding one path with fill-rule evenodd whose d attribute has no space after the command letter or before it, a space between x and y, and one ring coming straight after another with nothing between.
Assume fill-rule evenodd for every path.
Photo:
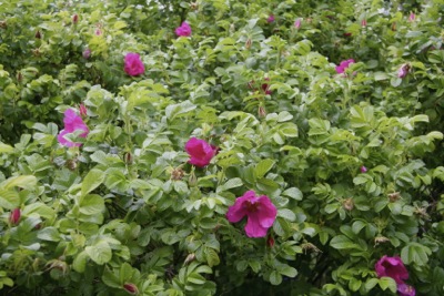
<instances>
[{"instance_id":1,"label":"largest wide-open magenta rose bloom, with drooping petals, lower centre-right","mask_svg":"<svg viewBox=\"0 0 444 296\"><path fill-rule=\"evenodd\" d=\"M246 236L263 237L276 220L276 207L269 196L256 197L254 191L248 191L229 207L226 218L231 223L236 223L246 216Z\"/></svg>"}]
</instances>

